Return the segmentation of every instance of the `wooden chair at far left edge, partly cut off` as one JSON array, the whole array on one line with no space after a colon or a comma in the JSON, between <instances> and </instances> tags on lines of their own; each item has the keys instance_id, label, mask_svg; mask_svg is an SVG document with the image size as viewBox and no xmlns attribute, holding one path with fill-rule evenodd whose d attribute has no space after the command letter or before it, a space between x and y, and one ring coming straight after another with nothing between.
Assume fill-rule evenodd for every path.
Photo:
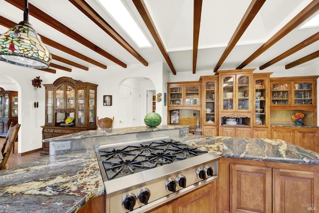
<instances>
[{"instance_id":1,"label":"wooden chair at far left edge, partly cut off","mask_svg":"<svg viewBox=\"0 0 319 213\"><path fill-rule=\"evenodd\" d=\"M9 155L12 151L12 147L13 147L15 139L18 135L18 131L20 129L20 126L21 126L21 124L18 124L18 123L15 124L14 126L13 126L13 122L11 122L11 124L10 124L8 134L6 135L6 137L4 139L3 147L1 149L1 154L3 156L3 160L0 162L0 170L9 168L9 165L6 162L8 161ZM9 141L9 145L6 149L6 152L4 152L7 141Z\"/></svg>"}]
</instances>

